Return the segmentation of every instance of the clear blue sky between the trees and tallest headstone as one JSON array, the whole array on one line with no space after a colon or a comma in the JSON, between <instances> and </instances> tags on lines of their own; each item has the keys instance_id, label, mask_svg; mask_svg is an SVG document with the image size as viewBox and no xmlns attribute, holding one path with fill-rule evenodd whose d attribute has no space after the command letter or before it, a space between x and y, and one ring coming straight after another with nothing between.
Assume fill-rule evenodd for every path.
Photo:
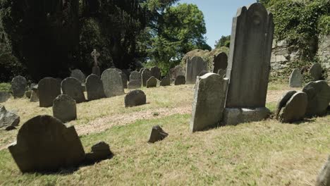
<instances>
[{"instance_id":1,"label":"clear blue sky between the trees and tallest headstone","mask_svg":"<svg viewBox=\"0 0 330 186\"><path fill-rule=\"evenodd\" d=\"M221 35L231 35L231 23L237 9L256 0L181 0L178 3L196 4L204 13L207 27L207 44L214 48Z\"/></svg>"}]
</instances>

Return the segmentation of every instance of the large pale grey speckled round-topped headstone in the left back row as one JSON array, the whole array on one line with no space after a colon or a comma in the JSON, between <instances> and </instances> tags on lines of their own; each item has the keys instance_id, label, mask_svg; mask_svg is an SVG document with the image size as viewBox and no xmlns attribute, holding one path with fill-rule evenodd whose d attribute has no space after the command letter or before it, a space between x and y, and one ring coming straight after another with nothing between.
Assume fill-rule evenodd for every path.
<instances>
[{"instance_id":1,"label":"large pale grey speckled round-topped headstone in the left back row","mask_svg":"<svg viewBox=\"0 0 330 186\"><path fill-rule=\"evenodd\" d=\"M125 94L123 80L118 70L114 68L104 70L101 80L106 97L116 97Z\"/></svg>"}]
</instances>

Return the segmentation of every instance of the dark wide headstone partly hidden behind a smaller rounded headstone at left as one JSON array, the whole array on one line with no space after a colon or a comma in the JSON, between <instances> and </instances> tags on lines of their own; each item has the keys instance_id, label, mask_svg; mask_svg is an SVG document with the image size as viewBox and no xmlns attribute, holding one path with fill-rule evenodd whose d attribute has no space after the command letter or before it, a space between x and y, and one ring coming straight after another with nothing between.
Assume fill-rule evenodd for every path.
<instances>
[{"instance_id":1,"label":"dark wide headstone partly hidden behind a smaller rounded headstone at left","mask_svg":"<svg viewBox=\"0 0 330 186\"><path fill-rule=\"evenodd\" d=\"M54 99L61 94L61 84L53 77L45 77L38 83L39 106L53 106Z\"/></svg>"}]
</instances>

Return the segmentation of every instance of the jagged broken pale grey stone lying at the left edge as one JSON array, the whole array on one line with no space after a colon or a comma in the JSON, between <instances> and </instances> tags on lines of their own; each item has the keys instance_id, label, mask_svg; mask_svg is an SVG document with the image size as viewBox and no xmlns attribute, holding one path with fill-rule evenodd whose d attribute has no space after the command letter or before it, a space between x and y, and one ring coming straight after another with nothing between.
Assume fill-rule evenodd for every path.
<instances>
[{"instance_id":1,"label":"jagged broken pale grey stone lying at the left edge","mask_svg":"<svg viewBox=\"0 0 330 186\"><path fill-rule=\"evenodd\" d=\"M20 123L20 116L11 111L7 111L4 106L0 105L0 128L11 130Z\"/></svg>"}]
</instances>

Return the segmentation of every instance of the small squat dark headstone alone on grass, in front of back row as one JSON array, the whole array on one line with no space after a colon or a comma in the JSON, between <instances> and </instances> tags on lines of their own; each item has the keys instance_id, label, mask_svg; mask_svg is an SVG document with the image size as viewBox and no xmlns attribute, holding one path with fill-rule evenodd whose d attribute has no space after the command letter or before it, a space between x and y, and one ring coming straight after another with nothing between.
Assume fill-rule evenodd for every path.
<instances>
[{"instance_id":1,"label":"small squat dark headstone alone on grass, in front of back row","mask_svg":"<svg viewBox=\"0 0 330 186\"><path fill-rule=\"evenodd\" d=\"M126 94L125 107L143 105L146 104L146 101L147 97L145 96L145 92L140 89L135 89Z\"/></svg>"}]
</instances>

